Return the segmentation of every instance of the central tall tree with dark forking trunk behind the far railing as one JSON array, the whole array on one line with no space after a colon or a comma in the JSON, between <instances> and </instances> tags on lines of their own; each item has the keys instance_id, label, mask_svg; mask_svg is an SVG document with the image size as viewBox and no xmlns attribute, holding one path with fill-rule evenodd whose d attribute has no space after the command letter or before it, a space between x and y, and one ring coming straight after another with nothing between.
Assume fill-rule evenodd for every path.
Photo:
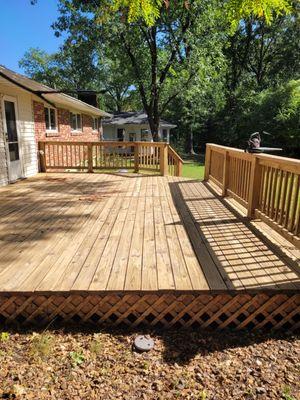
<instances>
[{"instance_id":1,"label":"central tall tree with dark forking trunk behind the far railing","mask_svg":"<svg viewBox=\"0 0 300 400\"><path fill-rule=\"evenodd\" d=\"M132 83L156 140L159 120L168 104L189 87L204 57L214 62L213 55L220 49L216 45L218 13L208 0L189 7L162 7L155 24L147 26L143 19L128 23L118 13L99 22L101 7L95 1L62 2L54 28L58 34L67 31L74 42L85 34L95 47L102 45L103 57L107 49L126 56Z\"/></svg>"}]
</instances>

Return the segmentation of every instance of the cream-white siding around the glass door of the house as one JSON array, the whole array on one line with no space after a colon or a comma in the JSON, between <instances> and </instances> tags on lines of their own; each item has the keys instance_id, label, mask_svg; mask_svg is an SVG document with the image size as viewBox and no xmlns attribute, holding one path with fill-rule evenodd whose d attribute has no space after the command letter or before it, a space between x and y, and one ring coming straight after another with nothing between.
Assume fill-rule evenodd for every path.
<instances>
[{"instance_id":1,"label":"cream-white siding around the glass door of the house","mask_svg":"<svg viewBox=\"0 0 300 400\"><path fill-rule=\"evenodd\" d=\"M0 79L0 95L13 96L17 100L17 114L18 114L18 133L20 155L23 168L23 176L29 177L38 172L37 166L37 148L34 135L34 121L32 110L32 96L25 90L17 88L15 85L7 83L5 80ZM4 138L3 126L1 127L0 135L0 152L1 152L1 137ZM5 159L5 157L4 157ZM0 160L2 160L0 153ZM5 163L6 164L6 163ZM6 165L5 165L6 170ZM4 174L4 167L2 162L0 164L0 180ZM7 176L7 173L6 173ZM2 184L5 184L4 181Z\"/></svg>"}]
</instances>

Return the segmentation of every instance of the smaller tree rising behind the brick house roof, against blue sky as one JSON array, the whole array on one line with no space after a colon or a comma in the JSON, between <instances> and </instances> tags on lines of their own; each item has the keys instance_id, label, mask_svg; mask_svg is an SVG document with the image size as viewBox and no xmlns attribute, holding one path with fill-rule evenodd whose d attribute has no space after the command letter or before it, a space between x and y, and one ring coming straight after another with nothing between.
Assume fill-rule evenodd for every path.
<instances>
[{"instance_id":1,"label":"smaller tree rising behind the brick house roof, against blue sky","mask_svg":"<svg viewBox=\"0 0 300 400\"><path fill-rule=\"evenodd\" d=\"M65 91L90 89L101 93L102 106L110 111L126 111L140 108L136 90L132 85L128 68L113 52L102 59L98 52L88 60L85 49L70 51L67 45L57 53L47 54L40 49L30 48L19 61L25 74L52 88Z\"/></svg>"}]
</instances>

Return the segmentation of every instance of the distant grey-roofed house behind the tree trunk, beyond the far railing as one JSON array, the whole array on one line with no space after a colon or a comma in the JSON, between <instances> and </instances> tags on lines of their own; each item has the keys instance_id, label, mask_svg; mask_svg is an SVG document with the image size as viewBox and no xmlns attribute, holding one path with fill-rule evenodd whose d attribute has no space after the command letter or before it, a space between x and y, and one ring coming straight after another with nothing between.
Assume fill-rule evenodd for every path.
<instances>
[{"instance_id":1,"label":"distant grey-roofed house behind the tree trunk, beyond the far railing","mask_svg":"<svg viewBox=\"0 0 300 400\"><path fill-rule=\"evenodd\" d=\"M172 128L176 128L176 125L160 120L159 140L169 142ZM147 115L142 111L114 113L112 118L103 120L103 139L151 142L152 135Z\"/></svg>"}]
</instances>

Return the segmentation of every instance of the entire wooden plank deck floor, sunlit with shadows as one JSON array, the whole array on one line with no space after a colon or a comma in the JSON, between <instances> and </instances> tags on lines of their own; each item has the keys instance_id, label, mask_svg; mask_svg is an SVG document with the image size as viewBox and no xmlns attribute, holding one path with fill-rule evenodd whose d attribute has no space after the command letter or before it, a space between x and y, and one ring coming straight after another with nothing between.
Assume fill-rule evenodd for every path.
<instances>
[{"instance_id":1,"label":"entire wooden plank deck floor, sunlit with shadows","mask_svg":"<svg viewBox=\"0 0 300 400\"><path fill-rule=\"evenodd\" d=\"M299 266L204 183L48 173L0 188L0 292L298 290Z\"/></svg>"}]
</instances>

